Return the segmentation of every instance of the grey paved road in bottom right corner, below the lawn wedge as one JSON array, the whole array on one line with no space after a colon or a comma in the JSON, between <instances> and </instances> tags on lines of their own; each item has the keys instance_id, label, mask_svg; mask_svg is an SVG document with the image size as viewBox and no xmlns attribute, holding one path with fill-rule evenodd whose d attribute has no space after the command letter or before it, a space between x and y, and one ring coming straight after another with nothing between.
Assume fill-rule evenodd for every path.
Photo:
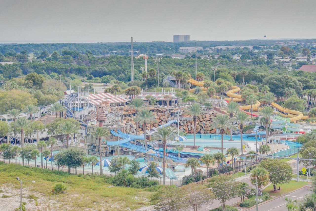
<instances>
[{"instance_id":1,"label":"grey paved road in bottom right corner, below the lawn wedge","mask_svg":"<svg viewBox=\"0 0 316 211\"><path fill-rule=\"evenodd\" d=\"M280 198L274 199L272 201L269 201L267 203L259 204L258 211L284 211L286 210L286 201L284 200L285 197L297 199L297 201L300 201L303 199L303 197L311 192L310 186L305 186L303 189L296 190L292 193L289 193L286 196L282 196ZM248 209L249 211L256 211L256 208Z\"/></svg>"}]
</instances>

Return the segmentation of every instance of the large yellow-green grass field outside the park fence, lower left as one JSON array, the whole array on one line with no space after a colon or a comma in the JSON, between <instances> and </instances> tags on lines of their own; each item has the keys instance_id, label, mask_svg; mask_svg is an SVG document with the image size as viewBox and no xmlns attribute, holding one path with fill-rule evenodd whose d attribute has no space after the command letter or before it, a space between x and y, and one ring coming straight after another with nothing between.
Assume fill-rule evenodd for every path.
<instances>
[{"instance_id":1,"label":"large yellow-green grass field outside the park fence, lower left","mask_svg":"<svg viewBox=\"0 0 316 211\"><path fill-rule=\"evenodd\" d=\"M147 196L152 193L144 189L112 186L105 182L105 176L69 175L66 172L2 162L0 175L0 190L9 187L19 193L20 183L16 177L20 177L24 181L35 181L23 183L23 189L30 191L35 197L44 197L44 202L58 201L54 207L41 204L45 208L41 210L134 210L149 205ZM54 195L51 192L52 187L60 182L68 188L67 192Z\"/></svg>"}]
</instances>

